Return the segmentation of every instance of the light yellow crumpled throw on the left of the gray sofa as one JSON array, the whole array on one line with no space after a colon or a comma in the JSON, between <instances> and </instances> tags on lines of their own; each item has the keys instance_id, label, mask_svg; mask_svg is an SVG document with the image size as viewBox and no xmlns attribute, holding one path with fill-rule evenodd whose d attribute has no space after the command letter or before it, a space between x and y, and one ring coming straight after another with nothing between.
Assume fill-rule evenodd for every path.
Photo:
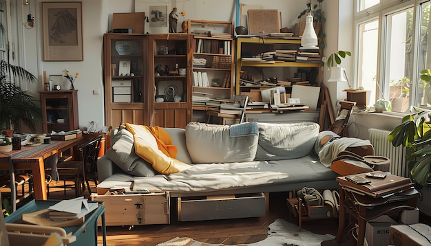
<instances>
[{"instance_id":1,"label":"light yellow crumpled throw on the left of the gray sofa","mask_svg":"<svg viewBox=\"0 0 431 246\"><path fill-rule=\"evenodd\" d=\"M158 149L156 138L148 126L126 123L126 129L134 135L136 155L148 161L156 171L164 175L170 175L190 168L184 162L162 153Z\"/></svg>"}]
</instances>

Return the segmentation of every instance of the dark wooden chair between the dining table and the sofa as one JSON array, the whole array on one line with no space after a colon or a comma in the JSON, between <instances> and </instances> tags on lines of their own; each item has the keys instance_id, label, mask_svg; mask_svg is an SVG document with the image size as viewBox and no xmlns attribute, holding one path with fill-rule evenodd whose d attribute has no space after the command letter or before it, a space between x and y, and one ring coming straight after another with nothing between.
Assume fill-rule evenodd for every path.
<instances>
[{"instance_id":1,"label":"dark wooden chair between the dining table and the sofa","mask_svg":"<svg viewBox=\"0 0 431 246\"><path fill-rule=\"evenodd\" d=\"M63 180L64 193L69 187L75 188L76 197L79 197L85 191L85 183L88 191L91 194L90 180L97 184L97 159L98 151L101 148L101 139L103 135L94 137L89 142L78 146L79 159L77 161L63 161L59 158L59 163L56 165L59 172L59 179ZM68 186L66 181L74 181L73 186ZM82 189L81 189L82 188Z\"/></svg>"}]
</instances>

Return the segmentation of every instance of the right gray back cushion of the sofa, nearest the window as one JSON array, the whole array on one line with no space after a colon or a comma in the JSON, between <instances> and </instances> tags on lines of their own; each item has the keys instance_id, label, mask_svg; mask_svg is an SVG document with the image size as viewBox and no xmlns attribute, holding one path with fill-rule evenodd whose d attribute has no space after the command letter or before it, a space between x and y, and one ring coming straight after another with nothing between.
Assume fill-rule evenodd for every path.
<instances>
[{"instance_id":1,"label":"right gray back cushion of the sofa, nearest the window","mask_svg":"<svg viewBox=\"0 0 431 246\"><path fill-rule=\"evenodd\" d=\"M319 134L319 124L313 122L258 125L258 161L304 157L313 150Z\"/></svg>"}]
</instances>

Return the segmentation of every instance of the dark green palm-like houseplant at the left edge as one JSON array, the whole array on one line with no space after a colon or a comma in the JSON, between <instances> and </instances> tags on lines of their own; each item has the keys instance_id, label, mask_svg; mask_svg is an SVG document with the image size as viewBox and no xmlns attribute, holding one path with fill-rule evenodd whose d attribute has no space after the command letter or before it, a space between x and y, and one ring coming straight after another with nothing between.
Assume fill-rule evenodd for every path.
<instances>
[{"instance_id":1,"label":"dark green palm-like houseplant at the left edge","mask_svg":"<svg viewBox=\"0 0 431 246\"><path fill-rule=\"evenodd\" d=\"M6 60L0 62L0 129L17 130L25 124L32 131L41 124L39 103L19 87L18 82L36 82L27 70Z\"/></svg>"}]
</instances>

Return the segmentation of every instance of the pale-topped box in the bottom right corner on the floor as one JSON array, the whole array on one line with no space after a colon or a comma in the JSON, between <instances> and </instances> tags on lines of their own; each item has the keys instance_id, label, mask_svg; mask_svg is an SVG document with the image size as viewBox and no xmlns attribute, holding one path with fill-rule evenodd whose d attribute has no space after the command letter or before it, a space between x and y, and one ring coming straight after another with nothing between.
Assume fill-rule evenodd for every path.
<instances>
[{"instance_id":1,"label":"pale-topped box in the bottom right corner on the floor","mask_svg":"<svg viewBox=\"0 0 431 246\"><path fill-rule=\"evenodd\" d=\"M420 234L419 234L420 233ZM389 243L395 246L430 246L431 227L424 224L392 225Z\"/></svg>"}]
</instances>

